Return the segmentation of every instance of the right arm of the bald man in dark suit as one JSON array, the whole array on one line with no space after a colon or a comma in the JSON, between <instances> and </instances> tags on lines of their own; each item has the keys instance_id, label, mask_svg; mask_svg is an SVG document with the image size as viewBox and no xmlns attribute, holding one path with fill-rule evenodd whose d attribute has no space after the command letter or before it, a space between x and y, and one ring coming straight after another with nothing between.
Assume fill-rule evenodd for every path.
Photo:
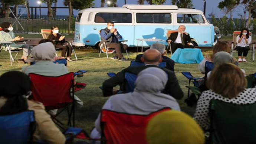
<instances>
[{"instance_id":1,"label":"right arm of the bald man in dark suit","mask_svg":"<svg viewBox=\"0 0 256 144\"><path fill-rule=\"evenodd\" d=\"M178 83L178 79L176 78L173 71L168 73L168 82L165 86L165 90L167 90L167 93L173 96L175 99L182 99L184 96L183 91L181 90Z\"/></svg>"}]
</instances>

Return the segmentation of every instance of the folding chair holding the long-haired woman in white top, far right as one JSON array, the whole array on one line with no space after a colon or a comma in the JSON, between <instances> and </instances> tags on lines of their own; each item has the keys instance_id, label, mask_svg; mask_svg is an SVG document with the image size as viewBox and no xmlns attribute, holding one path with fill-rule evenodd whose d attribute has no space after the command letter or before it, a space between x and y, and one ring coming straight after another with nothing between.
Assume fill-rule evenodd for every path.
<instances>
[{"instance_id":1,"label":"folding chair holding the long-haired woman in white top, far right","mask_svg":"<svg viewBox=\"0 0 256 144\"><path fill-rule=\"evenodd\" d=\"M240 35L240 33L241 33L240 31L234 31L233 32L233 41L231 43L231 55L232 56L233 56L233 52L237 52L237 50L236 50L236 46L237 46L236 37L238 35ZM249 32L249 35L252 36L252 32ZM250 46L250 50L248 52L252 53L250 59L254 62L254 60L255 60L255 58L254 58L255 57L255 42L251 43L249 46Z\"/></svg>"}]
</instances>

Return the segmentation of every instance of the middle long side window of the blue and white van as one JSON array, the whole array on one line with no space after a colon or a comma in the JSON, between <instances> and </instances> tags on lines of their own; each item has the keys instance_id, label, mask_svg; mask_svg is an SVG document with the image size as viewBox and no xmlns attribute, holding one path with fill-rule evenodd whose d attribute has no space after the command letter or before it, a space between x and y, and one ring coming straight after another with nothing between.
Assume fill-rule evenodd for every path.
<instances>
[{"instance_id":1,"label":"middle long side window of the blue and white van","mask_svg":"<svg viewBox=\"0 0 256 144\"><path fill-rule=\"evenodd\" d=\"M171 23L171 14L168 13L137 13L137 23Z\"/></svg>"}]
</instances>

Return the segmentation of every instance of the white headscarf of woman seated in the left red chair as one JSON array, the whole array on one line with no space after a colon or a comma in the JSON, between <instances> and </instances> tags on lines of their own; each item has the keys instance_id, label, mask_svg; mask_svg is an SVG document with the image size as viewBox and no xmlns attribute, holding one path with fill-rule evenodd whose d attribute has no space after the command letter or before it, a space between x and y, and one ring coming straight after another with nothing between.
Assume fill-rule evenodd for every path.
<instances>
[{"instance_id":1,"label":"white headscarf of woman seated in the left red chair","mask_svg":"<svg viewBox=\"0 0 256 144\"><path fill-rule=\"evenodd\" d=\"M33 62L33 61L54 61L53 58L55 57L55 47L52 42L44 42L39 44L32 49L33 58L29 58L26 62Z\"/></svg>"}]
</instances>

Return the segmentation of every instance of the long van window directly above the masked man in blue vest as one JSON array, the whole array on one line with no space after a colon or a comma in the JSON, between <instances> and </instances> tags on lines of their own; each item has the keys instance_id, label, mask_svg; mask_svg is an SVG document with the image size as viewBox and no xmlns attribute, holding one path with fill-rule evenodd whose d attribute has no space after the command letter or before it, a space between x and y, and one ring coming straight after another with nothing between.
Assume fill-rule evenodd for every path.
<instances>
[{"instance_id":1,"label":"long van window directly above the masked man in blue vest","mask_svg":"<svg viewBox=\"0 0 256 144\"><path fill-rule=\"evenodd\" d=\"M131 13L97 13L95 15L95 23L132 23Z\"/></svg>"}]
</instances>

